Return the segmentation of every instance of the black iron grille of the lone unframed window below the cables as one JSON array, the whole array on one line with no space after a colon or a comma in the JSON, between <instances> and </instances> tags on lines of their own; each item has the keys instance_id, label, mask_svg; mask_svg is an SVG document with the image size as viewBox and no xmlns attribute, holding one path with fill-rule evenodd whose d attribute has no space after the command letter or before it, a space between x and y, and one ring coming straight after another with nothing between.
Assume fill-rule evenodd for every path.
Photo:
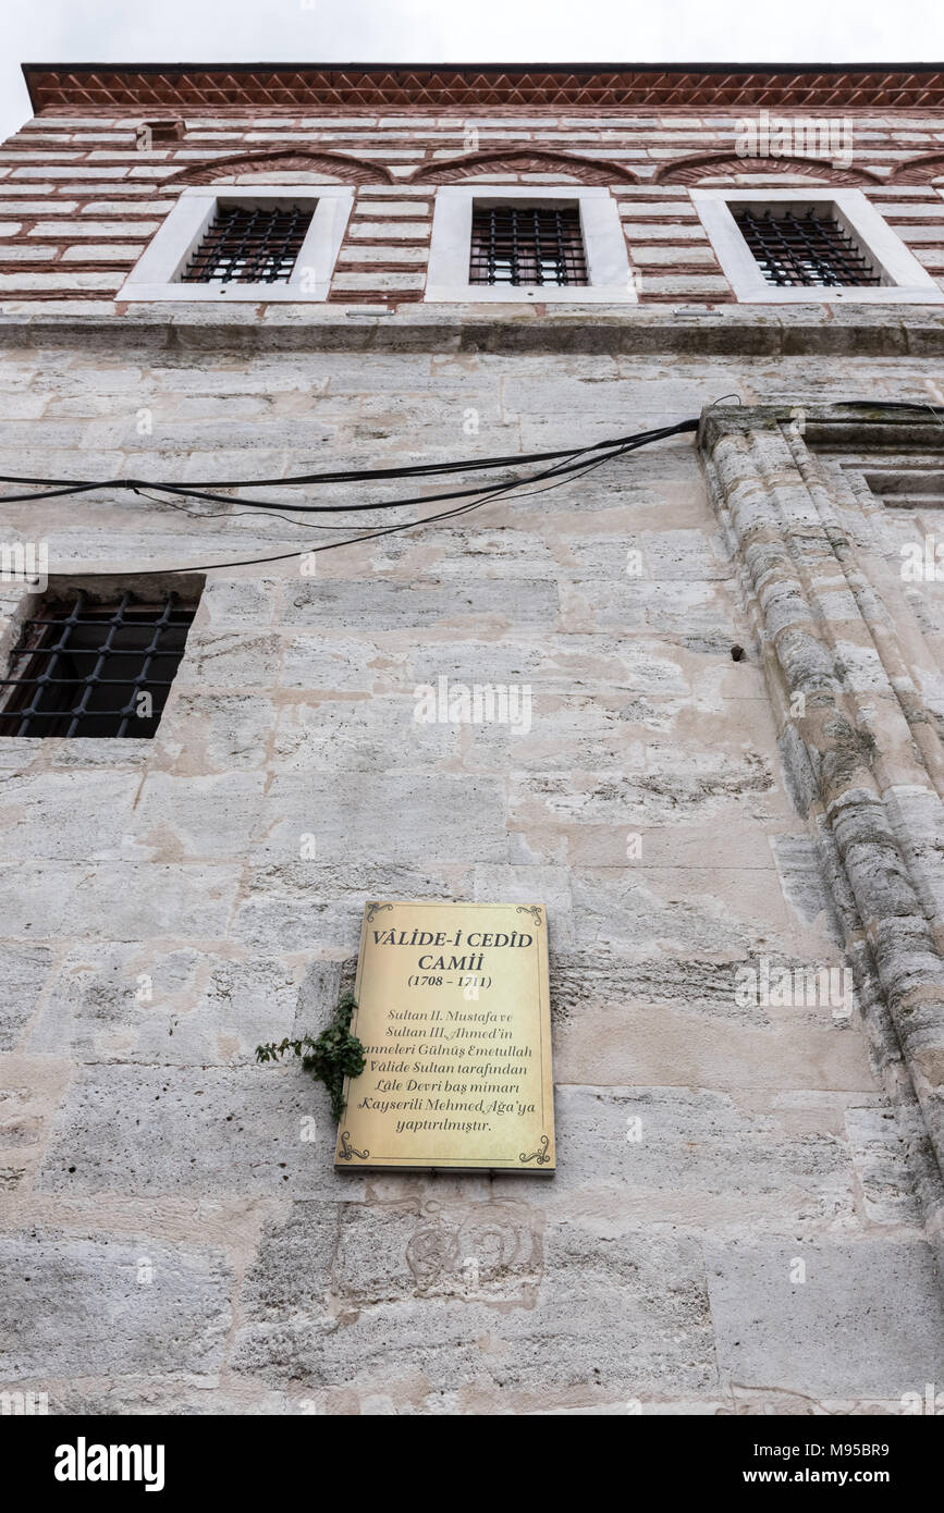
<instances>
[{"instance_id":1,"label":"black iron grille of the lone unframed window below the cables","mask_svg":"<svg viewBox=\"0 0 944 1513\"><path fill-rule=\"evenodd\" d=\"M42 604L12 651L0 735L151 737L160 723L194 610L159 604Z\"/></svg>"}]
</instances>

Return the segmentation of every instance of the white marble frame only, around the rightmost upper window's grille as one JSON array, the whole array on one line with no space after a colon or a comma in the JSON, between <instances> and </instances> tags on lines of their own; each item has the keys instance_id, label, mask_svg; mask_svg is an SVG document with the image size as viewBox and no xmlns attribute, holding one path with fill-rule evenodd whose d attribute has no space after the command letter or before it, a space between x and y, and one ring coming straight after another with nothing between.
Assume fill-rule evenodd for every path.
<instances>
[{"instance_id":1,"label":"white marble frame only, around the rightmost upper window's grille","mask_svg":"<svg viewBox=\"0 0 944 1513\"><path fill-rule=\"evenodd\" d=\"M693 189L699 213L728 283L744 304L942 304L944 289L911 253L900 236L868 203L861 189ZM791 204L797 210L832 204L840 224L882 271L883 283L868 287L814 289L769 284L741 236L731 206Z\"/></svg>"}]
</instances>

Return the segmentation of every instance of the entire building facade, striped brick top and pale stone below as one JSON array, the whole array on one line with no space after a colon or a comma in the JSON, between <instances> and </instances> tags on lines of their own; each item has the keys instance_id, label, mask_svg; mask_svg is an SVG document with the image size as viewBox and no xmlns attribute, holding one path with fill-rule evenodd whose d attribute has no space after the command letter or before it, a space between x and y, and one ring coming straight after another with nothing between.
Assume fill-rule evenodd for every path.
<instances>
[{"instance_id":1,"label":"entire building facade, striped brick top and pale stone below","mask_svg":"<svg viewBox=\"0 0 944 1513\"><path fill-rule=\"evenodd\" d=\"M0 737L0 1387L419 1415L944 1389L944 590L900 572L941 533L944 433L877 402L942 402L944 309L738 304L690 194L858 186L939 281L939 76L27 77L2 474L702 424L313 576L197 573L153 740ZM852 165L738 157L761 107L852 118ZM427 301L436 192L472 177L605 186L638 304ZM325 303L115 300L182 188L325 182L356 192ZM103 489L3 534L70 583L316 534L188 510ZM528 684L531 729L416 723L440 676ZM325 1023L369 897L546 902L552 1182L339 1177L327 1094L256 1065ZM852 1000L743 991L782 968Z\"/></svg>"}]
</instances>

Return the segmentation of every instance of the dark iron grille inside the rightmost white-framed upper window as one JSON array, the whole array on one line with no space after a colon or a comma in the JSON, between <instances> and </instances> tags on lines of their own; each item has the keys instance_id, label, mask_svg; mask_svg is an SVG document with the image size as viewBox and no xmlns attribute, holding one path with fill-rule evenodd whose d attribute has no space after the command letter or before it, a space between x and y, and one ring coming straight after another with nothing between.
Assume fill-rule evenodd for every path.
<instances>
[{"instance_id":1,"label":"dark iron grille inside the rightmost white-framed upper window","mask_svg":"<svg viewBox=\"0 0 944 1513\"><path fill-rule=\"evenodd\" d=\"M815 289L880 284L882 277L835 213L815 209L735 212L769 284Z\"/></svg>"}]
</instances>

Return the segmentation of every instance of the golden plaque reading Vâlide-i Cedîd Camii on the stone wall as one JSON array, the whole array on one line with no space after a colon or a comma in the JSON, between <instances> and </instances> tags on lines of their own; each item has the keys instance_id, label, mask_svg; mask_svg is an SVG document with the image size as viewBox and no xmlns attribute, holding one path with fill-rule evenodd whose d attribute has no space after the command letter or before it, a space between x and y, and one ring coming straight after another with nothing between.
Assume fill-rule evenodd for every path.
<instances>
[{"instance_id":1,"label":"golden plaque reading V\u00e2lide-i Ced\u00eed Camii on the stone wall","mask_svg":"<svg viewBox=\"0 0 944 1513\"><path fill-rule=\"evenodd\" d=\"M554 1171L540 903L368 903L334 1167Z\"/></svg>"}]
</instances>

